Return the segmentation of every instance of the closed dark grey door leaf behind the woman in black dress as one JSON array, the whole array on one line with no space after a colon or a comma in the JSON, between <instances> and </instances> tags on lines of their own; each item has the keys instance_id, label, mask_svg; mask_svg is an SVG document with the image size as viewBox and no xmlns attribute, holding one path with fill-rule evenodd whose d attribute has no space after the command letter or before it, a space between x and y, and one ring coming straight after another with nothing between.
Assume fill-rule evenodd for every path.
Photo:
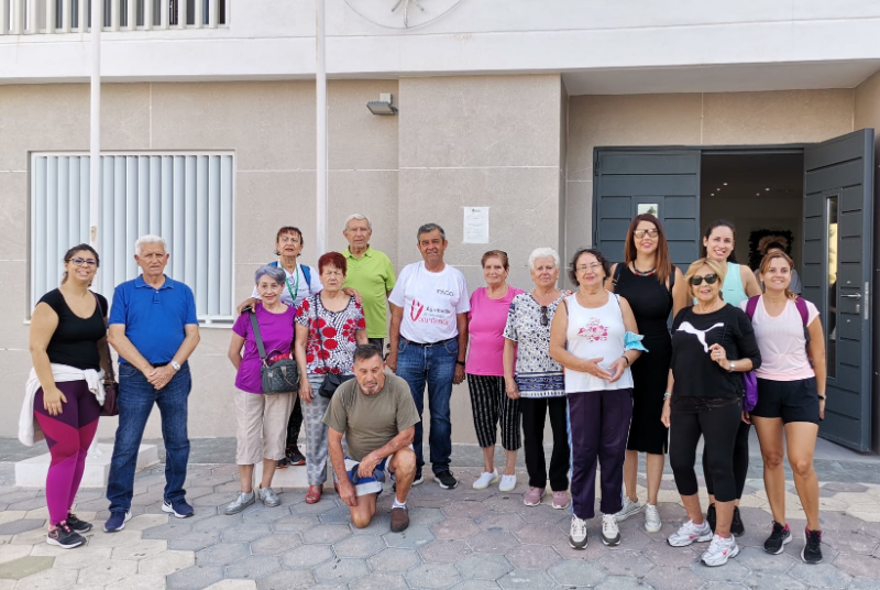
<instances>
[{"instance_id":1,"label":"closed dark grey door leaf behind the woman in black dress","mask_svg":"<svg viewBox=\"0 0 880 590\"><path fill-rule=\"evenodd\" d=\"M673 264L700 254L700 150L597 150L593 243L624 260L626 230L640 212L663 223Z\"/></svg>"}]
</instances>

